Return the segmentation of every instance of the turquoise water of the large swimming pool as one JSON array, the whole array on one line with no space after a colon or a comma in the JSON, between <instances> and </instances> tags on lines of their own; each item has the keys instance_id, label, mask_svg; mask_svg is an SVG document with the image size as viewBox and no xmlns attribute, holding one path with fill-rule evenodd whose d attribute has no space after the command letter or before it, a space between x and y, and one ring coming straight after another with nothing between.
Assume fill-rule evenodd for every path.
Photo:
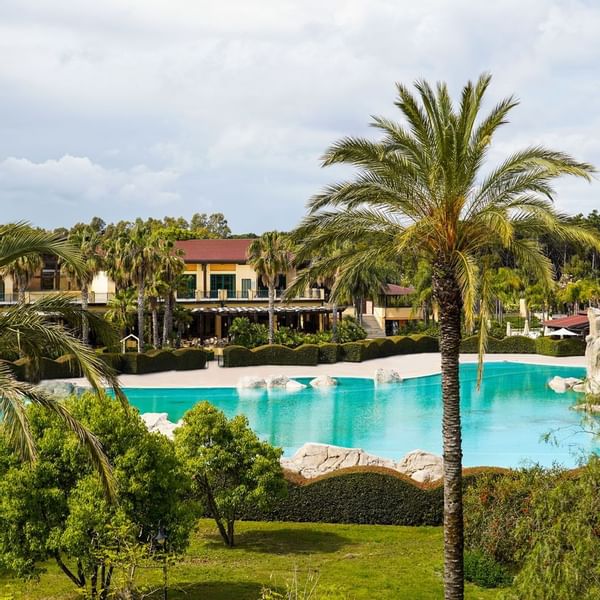
<instances>
[{"instance_id":1,"label":"turquoise water of the large swimming pool","mask_svg":"<svg viewBox=\"0 0 600 600\"><path fill-rule=\"evenodd\" d=\"M462 365L464 464L573 466L583 453L600 452L600 442L578 432L582 415L569 410L575 394L556 394L547 387L554 375L583 374L574 367L488 363L477 391L476 365ZM140 412L167 412L171 421L196 402L209 400L228 416L246 415L252 428L287 456L308 441L360 447L390 458L416 448L436 454L442 449L439 375L379 387L370 379L341 378L335 388L295 393L235 388L125 392ZM558 445L541 439L551 430L558 430Z\"/></svg>"}]
</instances>

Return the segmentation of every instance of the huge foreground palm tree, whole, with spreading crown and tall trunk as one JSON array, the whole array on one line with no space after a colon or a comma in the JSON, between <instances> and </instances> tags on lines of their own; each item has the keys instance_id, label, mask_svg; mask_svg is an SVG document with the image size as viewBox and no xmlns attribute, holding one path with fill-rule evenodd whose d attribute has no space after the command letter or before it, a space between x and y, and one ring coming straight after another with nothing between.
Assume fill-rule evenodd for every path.
<instances>
[{"instance_id":1,"label":"huge foreground palm tree, whole, with spreading crown and tall trunk","mask_svg":"<svg viewBox=\"0 0 600 600\"><path fill-rule=\"evenodd\" d=\"M538 242L541 234L599 246L594 234L574 227L552 204L553 180L561 175L590 179L589 164L534 146L482 173L494 133L517 104L507 98L480 115L489 82L489 75L469 82L457 107L444 83L433 89L419 81L416 94L398 85L396 106L405 123L375 117L380 140L345 138L326 151L324 166L348 164L358 173L314 197L294 235L311 251L343 240L362 244L347 268L397 263L407 254L431 265L440 319L446 600L463 598L458 359L461 319L464 315L469 328L478 318L481 377L492 297L482 258L501 247L549 285L552 266Z\"/></svg>"}]
</instances>

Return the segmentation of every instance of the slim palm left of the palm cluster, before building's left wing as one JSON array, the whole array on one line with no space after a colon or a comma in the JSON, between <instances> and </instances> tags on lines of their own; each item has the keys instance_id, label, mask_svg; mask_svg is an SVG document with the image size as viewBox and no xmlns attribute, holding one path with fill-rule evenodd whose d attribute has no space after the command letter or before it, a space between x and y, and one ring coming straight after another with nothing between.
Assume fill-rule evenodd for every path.
<instances>
[{"instance_id":1,"label":"slim palm left of the palm cluster, before building's left wing","mask_svg":"<svg viewBox=\"0 0 600 600\"><path fill-rule=\"evenodd\" d=\"M85 313L89 306L90 285L92 284L94 275L102 267L102 257L99 252L102 235L92 226L85 225L71 231L68 239L79 250L81 260L85 266L83 273L78 275L77 271L70 267L68 263L64 264L67 274L77 281L81 290L81 308L84 311L84 318L81 322L81 339L87 344L90 338L90 327L85 318Z\"/></svg>"}]
</instances>

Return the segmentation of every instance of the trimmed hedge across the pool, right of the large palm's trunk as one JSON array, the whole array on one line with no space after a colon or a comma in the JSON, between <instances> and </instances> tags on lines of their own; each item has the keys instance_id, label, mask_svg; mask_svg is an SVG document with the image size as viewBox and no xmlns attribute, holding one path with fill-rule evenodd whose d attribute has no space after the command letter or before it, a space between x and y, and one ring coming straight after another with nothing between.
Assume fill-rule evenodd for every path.
<instances>
[{"instance_id":1,"label":"trimmed hedge across the pool, right of the large palm's trunk","mask_svg":"<svg viewBox=\"0 0 600 600\"><path fill-rule=\"evenodd\" d=\"M461 352L478 352L477 336L462 340ZM544 356L583 356L585 342L581 339L552 340L548 337L532 339L523 336L489 338L486 352L490 354L542 354Z\"/></svg>"}]
</instances>

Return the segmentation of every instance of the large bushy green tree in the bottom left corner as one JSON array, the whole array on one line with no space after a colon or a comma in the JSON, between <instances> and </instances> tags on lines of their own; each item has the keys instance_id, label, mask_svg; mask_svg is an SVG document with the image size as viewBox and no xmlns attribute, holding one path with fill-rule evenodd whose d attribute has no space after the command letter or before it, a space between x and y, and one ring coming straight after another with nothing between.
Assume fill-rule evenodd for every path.
<instances>
[{"instance_id":1,"label":"large bushy green tree in the bottom left corner","mask_svg":"<svg viewBox=\"0 0 600 600\"><path fill-rule=\"evenodd\" d=\"M185 549L194 522L184 500L189 481L173 443L149 433L119 402L87 393L66 407L102 442L114 465L118 503L107 501L60 420L30 407L39 452L33 465L16 461L0 436L0 565L27 577L53 560L88 597L104 600L115 565L134 568L128 564L132 548L148 557L159 529L170 552Z\"/></svg>"}]
</instances>

